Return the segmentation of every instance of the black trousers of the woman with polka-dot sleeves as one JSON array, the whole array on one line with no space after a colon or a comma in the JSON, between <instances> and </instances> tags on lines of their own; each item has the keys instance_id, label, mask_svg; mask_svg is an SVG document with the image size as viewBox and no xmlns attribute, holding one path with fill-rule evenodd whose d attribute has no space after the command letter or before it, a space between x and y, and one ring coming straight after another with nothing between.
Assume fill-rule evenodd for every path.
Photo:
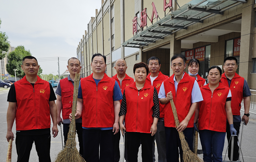
<instances>
[{"instance_id":1,"label":"black trousers of the woman with polka-dot sleeves","mask_svg":"<svg viewBox=\"0 0 256 162\"><path fill-rule=\"evenodd\" d=\"M151 133L139 133L139 132L126 132L127 135L127 153L129 162L138 162L138 152L141 142L141 156L142 162L152 162L152 142L155 135L151 136Z\"/></svg>"}]
</instances>

